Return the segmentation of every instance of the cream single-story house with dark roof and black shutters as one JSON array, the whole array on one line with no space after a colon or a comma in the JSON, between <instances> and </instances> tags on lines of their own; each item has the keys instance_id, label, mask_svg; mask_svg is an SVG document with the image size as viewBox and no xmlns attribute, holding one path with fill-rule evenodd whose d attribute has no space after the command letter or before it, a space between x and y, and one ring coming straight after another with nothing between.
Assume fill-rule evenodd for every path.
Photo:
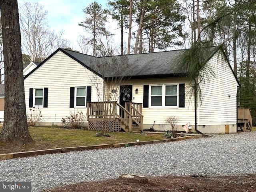
<instances>
[{"instance_id":1,"label":"cream single-story house with dark roof and black shutters","mask_svg":"<svg viewBox=\"0 0 256 192\"><path fill-rule=\"evenodd\" d=\"M104 101L101 96L106 93L106 79L116 81L114 76L125 76L129 78L118 84L119 90L108 90L120 93L113 100L113 126L124 129L135 122L144 130L169 130L166 118L170 116L178 118L180 130L186 124L194 126L190 82L185 71L174 71L182 51L94 57L58 48L24 77L27 112L38 108L41 124L60 125L71 112L82 111L90 128L97 129L97 110L93 108ZM112 70L98 70L107 62L112 62ZM213 52L208 64L216 75L201 87L204 100L197 109L197 130L224 133L229 126L230 133L236 132L238 79L221 49ZM120 70L120 66L127 68Z\"/></svg>"}]
</instances>

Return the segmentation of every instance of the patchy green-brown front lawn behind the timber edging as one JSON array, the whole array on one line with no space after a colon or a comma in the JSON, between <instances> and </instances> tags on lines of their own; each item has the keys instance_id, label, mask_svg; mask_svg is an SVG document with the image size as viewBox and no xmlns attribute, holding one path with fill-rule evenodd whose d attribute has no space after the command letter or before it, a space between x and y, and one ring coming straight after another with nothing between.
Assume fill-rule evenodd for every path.
<instances>
[{"instance_id":1,"label":"patchy green-brown front lawn behind the timber edging","mask_svg":"<svg viewBox=\"0 0 256 192\"><path fill-rule=\"evenodd\" d=\"M97 131L64 129L52 126L30 127L29 132L34 143L14 146L13 144L0 141L0 154L62 147L136 142L137 139L140 141L164 139L162 134L125 132L110 132L111 137L96 137Z\"/></svg>"}]
</instances>

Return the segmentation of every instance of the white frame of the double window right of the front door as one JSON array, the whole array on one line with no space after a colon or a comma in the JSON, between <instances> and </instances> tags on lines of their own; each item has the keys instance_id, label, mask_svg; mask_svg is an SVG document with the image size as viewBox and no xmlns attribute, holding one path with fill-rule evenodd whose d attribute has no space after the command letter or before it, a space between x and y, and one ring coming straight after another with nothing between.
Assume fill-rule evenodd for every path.
<instances>
[{"instance_id":1,"label":"white frame of the double window right of the front door","mask_svg":"<svg viewBox=\"0 0 256 192\"><path fill-rule=\"evenodd\" d=\"M166 86L177 86L177 95L166 95L165 89ZM162 106L151 106L151 87L153 86L162 86ZM178 83L168 83L168 84L150 84L149 85L149 97L148 97L148 107L149 108L179 108L179 84ZM157 96L157 95L154 95ZM160 96L160 95L159 95ZM166 106L165 105L165 96L177 96L177 105L176 106Z\"/></svg>"}]
</instances>

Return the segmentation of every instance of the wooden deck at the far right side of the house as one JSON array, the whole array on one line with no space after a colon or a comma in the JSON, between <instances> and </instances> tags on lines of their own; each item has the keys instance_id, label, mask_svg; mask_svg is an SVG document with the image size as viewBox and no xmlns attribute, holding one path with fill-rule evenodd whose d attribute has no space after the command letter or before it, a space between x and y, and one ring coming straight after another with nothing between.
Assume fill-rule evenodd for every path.
<instances>
[{"instance_id":1,"label":"wooden deck at the far right side of the house","mask_svg":"<svg viewBox=\"0 0 256 192\"><path fill-rule=\"evenodd\" d=\"M252 130L252 116L249 108L238 107L237 122L238 131Z\"/></svg>"}]
</instances>

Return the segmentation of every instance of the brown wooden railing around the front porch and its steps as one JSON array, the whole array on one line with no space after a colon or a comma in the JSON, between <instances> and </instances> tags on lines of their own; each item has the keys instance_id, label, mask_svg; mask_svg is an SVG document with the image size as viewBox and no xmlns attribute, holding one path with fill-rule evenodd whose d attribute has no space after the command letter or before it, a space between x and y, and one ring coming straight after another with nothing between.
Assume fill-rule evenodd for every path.
<instances>
[{"instance_id":1,"label":"brown wooden railing around the front porch and its steps","mask_svg":"<svg viewBox=\"0 0 256 192\"><path fill-rule=\"evenodd\" d=\"M142 104L140 103L125 103L125 107L120 105L118 102L87 102L87 120L93 119L102 120L104 118L110 118L116 121L118 118L122 124L129 128L129 132L132 131L132 122L135 122L140 130L143 129L143 115L142 115Z\"/></svg>"}]
</instances>

